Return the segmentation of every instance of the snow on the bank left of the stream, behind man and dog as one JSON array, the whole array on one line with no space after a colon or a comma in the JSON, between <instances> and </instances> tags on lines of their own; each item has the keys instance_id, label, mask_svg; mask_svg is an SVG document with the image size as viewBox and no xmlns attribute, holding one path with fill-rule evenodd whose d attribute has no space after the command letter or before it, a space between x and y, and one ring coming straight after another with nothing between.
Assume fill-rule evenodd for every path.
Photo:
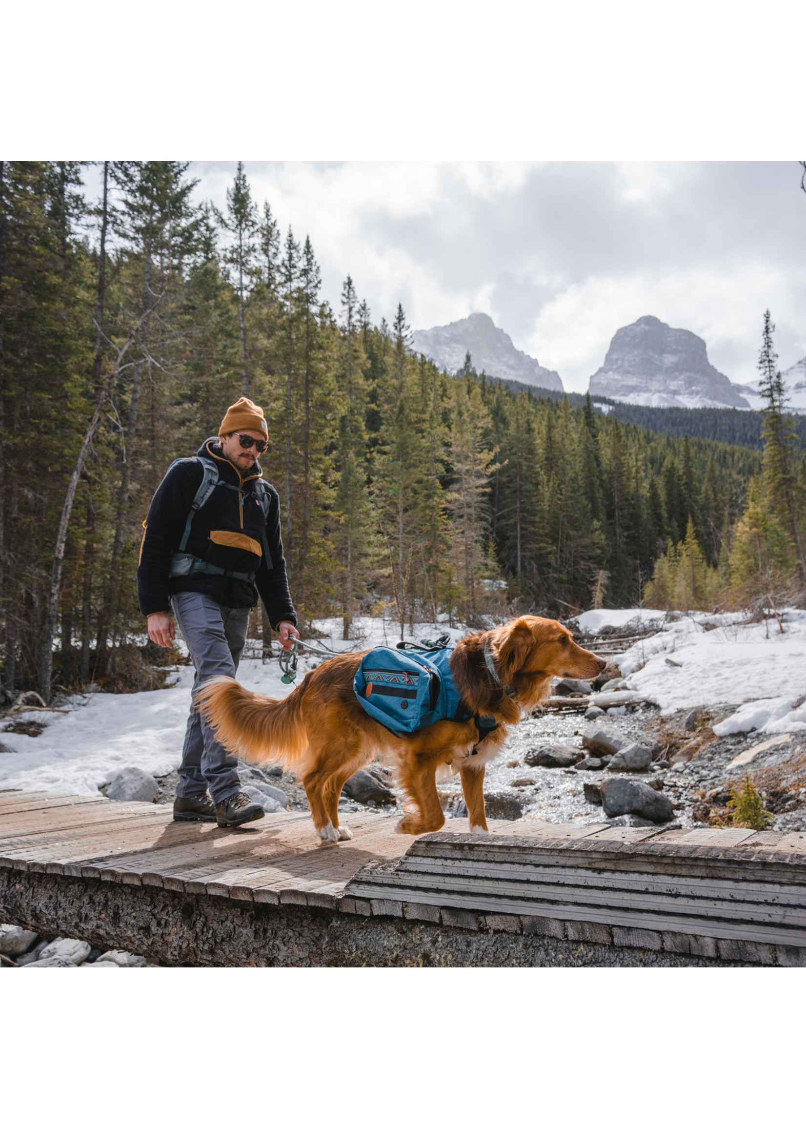
<instances>
[{"instance_id":1,"label":"snow on the bank left of the stream, behind man and dog","mask_svg":"<svg viewBox=\"0 0 806 1129\"><path fill-rule=\"evenodd\" d=\"M388 619L353 620L353 639L342 640L341 619L321 620L314 627L322 632L325 646L334 650L356 650L374 646L394 647L400 627ZM414 625L419 639L447 631L453 641L465 634L462 628L445 623ZM247 644L247 648L248 648ZM248 651L247 651L248 653ZM297 683L306 671L322 662L318 656L299 660ZM270 698L286 698L292 685L283 685L277 659L265 665L260 658L244 658L238 681ZM3 733L0 743L11 750L0 752L0 789L63 791L78 796L97 795L98 785L115 772L134 765L152 776L165 776L178 768L182 744L191 708L193 667L177 667L169 689L134 694L94 693L68 700L68 714L35 710L16 715L14 721L38 721L45 729L38 737Z\"/></svg>"}]
</instances>

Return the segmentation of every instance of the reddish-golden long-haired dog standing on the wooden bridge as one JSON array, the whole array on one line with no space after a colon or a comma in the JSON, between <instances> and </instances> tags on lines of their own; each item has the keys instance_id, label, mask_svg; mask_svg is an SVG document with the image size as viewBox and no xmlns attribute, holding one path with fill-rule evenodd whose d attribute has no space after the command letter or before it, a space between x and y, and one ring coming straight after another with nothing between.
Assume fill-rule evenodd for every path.
<instances>
[{"instance_id":1,"label":"reddish-golden long-haired dog standing on the wooden bridge","mask_svg":"<svg viewBox=\"0 0 806 1129\"><path fill-rule=\"evenodd\" d=\"M196 693L198 708L227 749L253 763L294 767L325 843L352 838L339 823L339 796L353 772L378 756L395 767L405 793L397 831L420 835L443 826L436 780L439 770L448 769L459 773L471 831L487 832L484 767L498 755L509 727L547 697L552 677L594 679L606 665L577 646L557 620L522 615L466 636L450 656L467 712L493 717L498 728L480 741L473 718L440 720L398 737L369 717L353 692L366 654L327 659L284 699L252 693L225 676Z\"/></svg>"}]
</instances>

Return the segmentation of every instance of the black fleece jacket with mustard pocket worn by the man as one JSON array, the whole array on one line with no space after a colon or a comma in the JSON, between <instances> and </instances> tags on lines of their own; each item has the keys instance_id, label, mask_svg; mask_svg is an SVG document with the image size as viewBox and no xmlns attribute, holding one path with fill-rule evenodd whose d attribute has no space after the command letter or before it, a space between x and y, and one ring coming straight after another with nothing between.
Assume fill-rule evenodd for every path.
<instances>
[{"instance_id":1,"label":"black fleece jacket with mustard pocket worn by the man","mask_svg":"<svg viewBox=\"0 0 806 1129\"><path fill-rule=\"evenodd\" d=\"M255 583L209 572L168 576L170 554L178 551L185 522L203 475L200 462L178 463L168 471L157 488L143 523L146 532L137 570L140 611L143 615L170 611L168 597L177 592L202 592L224 607L254 607L260 593L273 628L282 621L296 624L297 616L288 590L286 560L282 555L280 499L277 490L266 483L269 516L265 519L265 533L272 562L272 567L266 568L261 536L263 508L255 496L255 482L263 475L260 465L254 463L251 472L242 476L237 467L221 454L216 437L203 443L198 454L214 458L218 463L219 482L229 482L238 487L238 491L216 487L208 501L193 516L186 552L230 572L255 572Z\"/></svg>"}]
</instances>

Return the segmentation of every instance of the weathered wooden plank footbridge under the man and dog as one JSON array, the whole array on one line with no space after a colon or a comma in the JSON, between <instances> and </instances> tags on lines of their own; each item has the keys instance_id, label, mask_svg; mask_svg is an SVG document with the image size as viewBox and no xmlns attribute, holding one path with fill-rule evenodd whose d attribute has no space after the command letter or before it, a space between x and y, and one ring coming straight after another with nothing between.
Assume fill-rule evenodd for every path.
<instances>
[{"instance_id":1,"label":"weathered wooden plank footbridge under the man and dog","mask_svg":"<svg viewBox=\"0 0 806 1129\"><path fill-rule=\"evenodd\" d=\"M492 834L479 837L468 834L466 820L450 820L449 831L414 840L396 834L395 822L378 813L351 815L353 839L325 846L307 812L219 829L175 823L167 805L0 793L0 920L10 913L43 928L43 881L52 876L50 904L68 886L73 902L85 891L99 905L119 891L130 922L125 936L143 951L159 944L154 921L150 939L144 926L140 937L138 913L156 913L154 899L163 891L163 931L176 931L172 914L192 895L194 912L204 905L213 916L227 904L230 914L237 908L253 919L259 907L300 907L330 911L328 920L342 924L397 918L401 927L429 922L524 939L806 963L805 833L494 821ZM168 894L181 896L172 902ZM264 945L273 926L271 913L260 913ZM52 927L77 928L76 914ZM87 926L94 943L105 936L104 919L102 912ZM301 928L283 920L291 934ZM120 934L109 939L122 944ZM214 947L214 938L208 943ZM236 957L210 961L217 962Z\"/></svg>"}]
</instances>

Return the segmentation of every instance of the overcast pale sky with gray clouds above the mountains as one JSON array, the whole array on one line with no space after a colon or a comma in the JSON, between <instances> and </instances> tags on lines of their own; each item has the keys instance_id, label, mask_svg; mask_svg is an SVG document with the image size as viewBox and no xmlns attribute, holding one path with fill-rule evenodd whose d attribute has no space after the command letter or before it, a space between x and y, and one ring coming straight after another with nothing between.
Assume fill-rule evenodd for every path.
<instances>
[{"instance_id":1,"label":"overcast pale sky with gray clouds above the mountains","mask_svg":"<svg viewBox=\"0 0 806 1129\"><path fill-rule=\"evenodd\" d=\"M195 161L225 205L234 163ZM734 380L756 376L762 316L781 368L806 355L806 194L790 163L245 163L255 201L310 236L339 312L349 272L374 321L475 310L582 392L643 314L692 330ZM90 185L88 184L88 187Z\"/></svg>"}]
</instances>

